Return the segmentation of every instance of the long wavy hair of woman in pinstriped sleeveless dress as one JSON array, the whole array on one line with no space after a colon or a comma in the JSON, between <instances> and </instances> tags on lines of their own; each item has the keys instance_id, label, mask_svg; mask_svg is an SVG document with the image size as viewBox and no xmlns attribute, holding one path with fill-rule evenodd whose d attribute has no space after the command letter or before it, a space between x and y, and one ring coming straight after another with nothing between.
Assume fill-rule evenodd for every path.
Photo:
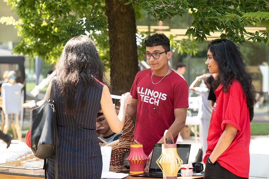
<instances>
[{"instance_id":1,"label":"long wavy hair of woman in pinstriped sleeveless dress","mask_svg":"<svg viewBox=\"0 0 269 179\"><path fill-rule=\"evenodd\" d=\"M100 60L97 48L88 37L77 36L71 38L64 46L60 60L56 66L57 85L63 96L65 114L74 115L75 92L79 81L84 83L82 91L81 110L85 110L85 93L89 85L99 86L96 80L105 83L104 65Z\"/></svg>"}]
</instances>

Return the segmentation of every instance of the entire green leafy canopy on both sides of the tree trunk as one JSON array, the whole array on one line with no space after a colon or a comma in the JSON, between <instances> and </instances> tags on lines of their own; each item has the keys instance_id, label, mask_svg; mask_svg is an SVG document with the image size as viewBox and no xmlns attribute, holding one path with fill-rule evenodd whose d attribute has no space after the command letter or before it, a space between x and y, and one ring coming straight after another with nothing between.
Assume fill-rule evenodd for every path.
<instances>
[{"instance_id":1,"label":"entire green leafy canopy on both sides of the tree trunk","mask_svg":"<svg viewBox=\"0 0 269 179\"><path fill-rule=\"evenodd\" d=\"M88 35L99 47L100 56L109 67L109 34L104 0L4 0L20 17L1 17L0 22L15 25L21 41L14 52L37 55L46 61L56 62L63 45L77 35ZM234 42L264 42L268 33L247 32L244 27L262 24L268 29L269 12L266 0L121 0L132 4L136 18L144 9L153 17L152 21L181 16L189 9L192 22L186 35L203 42L210 32L222 31L221 38ZM142 37L145 34L142 34ZM139 40L141 34L137 34ZM139 44L138 44L139 45ZM197 43L185 39L171 42L179 47L179 53L196 53ZM138 50L143 46L139 45Z\"/></svg>"}]
</instances>

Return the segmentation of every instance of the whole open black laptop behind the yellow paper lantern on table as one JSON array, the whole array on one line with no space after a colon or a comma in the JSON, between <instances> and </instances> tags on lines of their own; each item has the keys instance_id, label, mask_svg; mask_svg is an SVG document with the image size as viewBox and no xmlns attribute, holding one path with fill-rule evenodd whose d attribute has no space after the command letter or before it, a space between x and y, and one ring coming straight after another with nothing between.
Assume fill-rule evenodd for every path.
<instances>
[{"instance_id":1,"label":"whole open black laptop behind the yellow paper lantern on table","mask_svg":"<svg viewBox=\"0 0 269 179\"><path fill-rule=\"evenodd\" d=\"M176 150L179 157L183 160L183 164L188 164L189 155L190 155L190 144L176 144ZM140 173L130 175L133 177L152 177L152 178L163 178L163 173L160 167L157 165L156 161L160 157L162 153L162 144L154 144L150 169L147 173ZM180 177L180 171L178 173L178 177Z\"/></svg>"}]
</instances>

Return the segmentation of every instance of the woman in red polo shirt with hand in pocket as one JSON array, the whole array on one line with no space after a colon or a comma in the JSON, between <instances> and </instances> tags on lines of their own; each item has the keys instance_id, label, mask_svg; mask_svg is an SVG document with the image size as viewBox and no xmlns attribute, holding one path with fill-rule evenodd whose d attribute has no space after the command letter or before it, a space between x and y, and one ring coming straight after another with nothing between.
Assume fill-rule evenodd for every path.
<instances>
[{"instance_id":1,"label":"woman in red polo shirt with hand in pocket","mask_svg":"<svg viewBox=\"0 0 269 179\"><path fill-rule=\"evenodd\" d=\"M251 75L242 55L227 39L216 39L208 45L210 73L217 73L216 102L213 106L207 150L205 179L248 178L250 119L248 107L256 102Z\"/></svg>"}]
</instances>

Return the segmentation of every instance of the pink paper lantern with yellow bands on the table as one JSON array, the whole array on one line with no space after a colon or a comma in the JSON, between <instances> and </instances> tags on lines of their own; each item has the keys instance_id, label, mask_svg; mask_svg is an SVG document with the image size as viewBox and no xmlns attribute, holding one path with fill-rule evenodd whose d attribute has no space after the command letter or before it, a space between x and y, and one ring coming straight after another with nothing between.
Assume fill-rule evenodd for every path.
<instances>
[{"instance_id":1,"label":"pink paper lantern with yellow bands on the table","mask_svg":"<svg viewBox=\"0 0 269 179\"><path fill-rule=\"evenodd\" d=\"M126 158L130 164L130 174L144 173L144 167L149 157L143 151L143 145L132 144L129 156Z\"/></svg>"}]
</instances>

